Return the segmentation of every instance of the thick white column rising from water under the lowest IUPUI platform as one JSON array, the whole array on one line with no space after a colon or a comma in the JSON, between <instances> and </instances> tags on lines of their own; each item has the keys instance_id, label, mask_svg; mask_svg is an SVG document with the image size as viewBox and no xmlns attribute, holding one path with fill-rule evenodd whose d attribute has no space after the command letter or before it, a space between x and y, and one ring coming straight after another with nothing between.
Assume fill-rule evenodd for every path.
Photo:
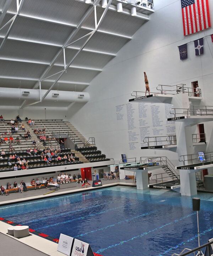
<instances>
[{"instance_id":1,"label":"thick white column rising from water under the lowest IUPUI platform","mask_svg":"<svg viewBox=\"0 0 213 256\"><path fill-rule=\"evenodd\" d=\"M180 170L180 193L181 195L197 195L195 172L192 170Z\"/></svg>"}]
</instances>

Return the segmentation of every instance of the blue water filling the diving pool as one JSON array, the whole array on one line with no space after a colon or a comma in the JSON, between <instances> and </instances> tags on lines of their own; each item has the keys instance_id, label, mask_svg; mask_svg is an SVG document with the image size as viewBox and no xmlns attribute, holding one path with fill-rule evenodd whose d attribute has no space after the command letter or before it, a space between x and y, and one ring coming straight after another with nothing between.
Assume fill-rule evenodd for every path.
<instances>
[{"instance_id":1,"label":"blue water filling the diving pool","mask_svg":"<svg viewBox=\"0 0 213 256\"><path fill-rule=\"evenodd\" d=\"M213 194L200 193L200 233L213 237ZM0 217L59 238L88 242L104 256L160 256L197 247L190 197L167 190L112 187L0 207Z\"/></svg>"}]
</instances>

